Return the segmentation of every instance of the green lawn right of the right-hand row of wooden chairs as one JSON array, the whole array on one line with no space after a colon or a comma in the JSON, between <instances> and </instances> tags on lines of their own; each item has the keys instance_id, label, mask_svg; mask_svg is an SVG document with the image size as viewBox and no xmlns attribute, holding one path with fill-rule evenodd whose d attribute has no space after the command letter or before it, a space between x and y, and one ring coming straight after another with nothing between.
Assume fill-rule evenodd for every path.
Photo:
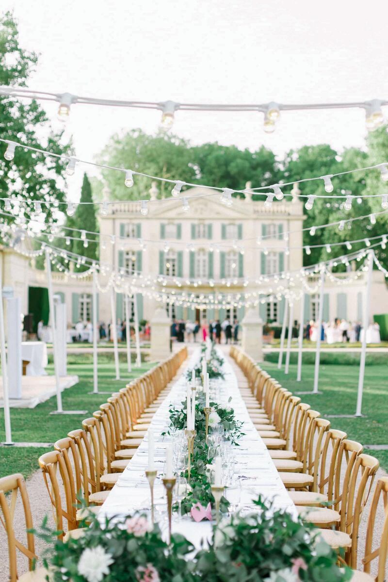
<instances>
[{"instance_id":1,"label":"green lawn right of the right-hand row of wooden chairs","mask_svg":"<svg viewBox=\"0 0 388 582\"><path fill-rule=\"evenodd\" d=\"M351 357L349 357L351 355ZM289 374L277 369L277 357L270 354L262 367L291 392L312 391L314 357L306 357L302 365L302 381L296 381L296 354L291 354ZM276 354L277 356L277 354ZM357 402L359 354L325 354L319 370L320 395L301 395L302 401L318 410L322 417L328 414L354 414ZM363 445L388 445L388 356L370 354L366 359L362 418L330 418L333 428L346 431L348 438ZM378 457L388 470L388 450L367 450Z\"/></svg>"}]
</instances>

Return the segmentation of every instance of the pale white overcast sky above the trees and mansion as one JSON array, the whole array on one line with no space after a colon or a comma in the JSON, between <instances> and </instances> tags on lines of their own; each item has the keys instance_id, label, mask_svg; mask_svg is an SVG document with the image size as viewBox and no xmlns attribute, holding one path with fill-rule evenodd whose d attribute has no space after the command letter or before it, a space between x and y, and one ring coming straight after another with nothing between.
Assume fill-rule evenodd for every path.
<instances>
[{"instance_id":1,"label":"pale white overcast sky above the trees and mansion","mask_svg":"<svg viewBox=\"0 0 388 582\"><path fill-rule=\"evenodd\" d=\"M36 90L208 103L388 98L384 0L3 0L1 8L14 10L21 44L40 54ZM44 107L55 120L58 106ZM76 154L92 159L111 134L152 133L159 120L156 111L74 105L68 130ZM173 129L195 144L264 144L278 155L304 144L361 147L366 132L363 111L336 110L282 113L270 135L255 112L177 112Z\"/></svg>"}]
</instances>

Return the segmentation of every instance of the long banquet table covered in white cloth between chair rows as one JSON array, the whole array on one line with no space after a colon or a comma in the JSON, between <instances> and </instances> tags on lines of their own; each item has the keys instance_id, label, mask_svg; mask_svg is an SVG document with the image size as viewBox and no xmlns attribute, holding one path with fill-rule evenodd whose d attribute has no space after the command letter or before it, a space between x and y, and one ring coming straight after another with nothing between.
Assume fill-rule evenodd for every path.
<instances>
[{"instance_id":1,"label":"long banquet table covered in white cloth between chair rows","mask_svg":"<svg viewBox=\"0 0 388 582\"><path fill-rule=\"evenodd\" d=\"M241 508L244 506L251 511L252 499L257 499L261 494L266 499L273 500L275 509L283 509L296 516L296 509L293 502L277 473L268 450L257 430L255 429L241 393L237 385L236 374L225 354L220 354L224 358L222 371L225 374L225 386L228 397L232 396L230 406L236 412L236 417L243 421L243 432L245 433L236 447L236 473L241 480ZM165 500L165 490L159 477L163 472L166 446L172 442L171 437L162 437L169 426L170 406L181 406L181 402L186 397L186 370L200 358L200 350L187 361L187 365L181 376L172 386L169 395L163 401L154 418L152 418L151 429L155 438L155 466L158 469L158 480L155 482L154 495L155 505L161 505ZM136 510L148 510L150 503L149 486L145 477L145 469L148 463L148 435L145 436L135 455L130 460L126 469L120 475L118 482L113 487L104 505L98 513L98 517L104 520L105 517L124 516L136 512ZM212 525L210 521L196 523L189 516L183 516L180 520L173 517L172 533L181 533L190 540L196 548L200 548L201 540L208 540L211 537Z\"/></svg>"}]
</instances>

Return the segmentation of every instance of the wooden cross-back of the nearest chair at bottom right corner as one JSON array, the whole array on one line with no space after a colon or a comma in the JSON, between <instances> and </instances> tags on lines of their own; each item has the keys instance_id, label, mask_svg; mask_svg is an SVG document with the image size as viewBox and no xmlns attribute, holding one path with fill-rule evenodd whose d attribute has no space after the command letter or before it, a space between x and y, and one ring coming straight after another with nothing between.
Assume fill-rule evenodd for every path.
<instances>
[{"instance_id":1,"label":"wooden cross-back of the nearest chair at bottom right corner","mask_svg":"<svg viewBox=\"0 0 388 582\"><path fill-rule=\"evenodd\" d=\"M382 534L380 538L380 545L372 550L373 535L375 534L376 513L379 507L380 500L383 502L384 520L382 527ZM376 483L375 492L369 509L368 528L366 530L365 540L365 556L362 559L364 565L364 572L371 572L371 562L379 558L378 575L376 582L384 582L386 580L386 562L388 557L388 477L380 477Z\"/></svg>"}]
</instances>

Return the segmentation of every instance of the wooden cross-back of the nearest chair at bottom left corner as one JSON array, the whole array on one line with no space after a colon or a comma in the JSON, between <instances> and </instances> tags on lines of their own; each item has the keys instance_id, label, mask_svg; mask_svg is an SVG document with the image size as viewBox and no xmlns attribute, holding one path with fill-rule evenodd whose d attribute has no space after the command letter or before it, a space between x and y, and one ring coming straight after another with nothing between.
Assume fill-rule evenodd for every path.
<instances>
[{"instance_id":1,"label":"wooden cross-back of the nearest chair at bottom left corner","mask_svg":"<svg viewBox=\"0 0 388 582\"><path fill-rule=\"evenodd\" d=\"M10 494L8 498L6 494ZM27 532L27 545L22 544L16 539L13 520L15 518L16 502L19 494L23 503L26 530L31 530L33 528L33 518L31 516L29 495L23 475L15 473L14 475L0 478L0 509L2 512L2 515L0 514L0 523L4 527L8 538L10 582L16 582L18 579L16 550L19 550L28 558L30 570L32 570L34 560L37 557L35 555L34 534Z\"/></svg>"}]
</instances>

